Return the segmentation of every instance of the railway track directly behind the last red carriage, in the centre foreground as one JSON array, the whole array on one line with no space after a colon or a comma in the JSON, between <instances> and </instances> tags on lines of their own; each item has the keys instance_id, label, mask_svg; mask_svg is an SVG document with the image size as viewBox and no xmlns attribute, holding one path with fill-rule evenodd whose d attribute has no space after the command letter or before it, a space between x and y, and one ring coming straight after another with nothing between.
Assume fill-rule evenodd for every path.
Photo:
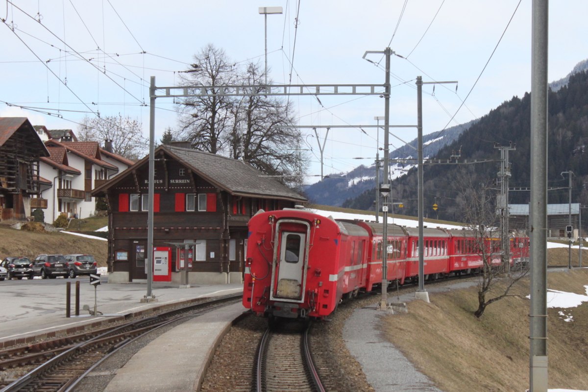
<instances>
[{"instance_id":1,"label":"railway track directly behind the last red carriage, in the centre foreground","mask_svg":"<svg viewBox=\"0 0 588 392\"><path fill-rule=\"evenodd\" d=\"M310 324L299 329L292 323L288 329L268 328L263 334L256 355L255 391L325 391L310 351Z\"/></svg>"}]
</instances>

